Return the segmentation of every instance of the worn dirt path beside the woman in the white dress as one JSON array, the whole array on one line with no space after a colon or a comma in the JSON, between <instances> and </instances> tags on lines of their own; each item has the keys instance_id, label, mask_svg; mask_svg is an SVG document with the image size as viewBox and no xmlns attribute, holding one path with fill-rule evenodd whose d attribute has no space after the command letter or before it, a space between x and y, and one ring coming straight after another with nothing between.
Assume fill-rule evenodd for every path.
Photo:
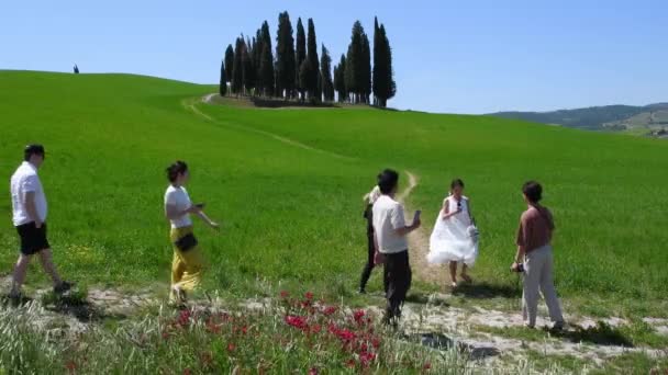
<instances>
[{"instance_id":1,"label":"worn dirt path beside the woman in the white dress","mask_svg":"<svg viewBox=\"0 0 668 375\"><path fill-rule=\"evenodd\" d=\"M409 178L409 185L399 194L398 201L401 202L408 211L410 205L408 204L407 198L411 195L415 186L417 186L420 180L411 171L405 171L405 174ZM424 225L427 219L428 218L426 217L422 217L422 224ZM445 266L430 264L426 261L426 253L430 250L430 235L424 226L409 235L409 249L413 277L445 287L447 280Z\"/></svg>"}]
</instances>

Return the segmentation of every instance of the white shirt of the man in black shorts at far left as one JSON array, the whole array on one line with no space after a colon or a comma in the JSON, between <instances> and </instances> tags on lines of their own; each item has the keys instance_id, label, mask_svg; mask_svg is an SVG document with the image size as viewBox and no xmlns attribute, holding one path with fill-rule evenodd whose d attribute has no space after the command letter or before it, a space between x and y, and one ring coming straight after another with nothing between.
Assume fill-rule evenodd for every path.
<instances>
[{"instance_id":1,"label":"white shirt of the man in black shorts at far left","mask_svg":"<svg viewBox=\"0 0 668 375\"><path fill-rule=\"evenodd\" d=\"M25 209L25 196L30 192L35 193L35 208L40 220L42 223L46 220L46 196L35 166L27 161L21 163L12 174L10 191L12 194L12 221L14 221L15 227L34 221L34 218L30 217Z\"/></svg>"}]
</instances>

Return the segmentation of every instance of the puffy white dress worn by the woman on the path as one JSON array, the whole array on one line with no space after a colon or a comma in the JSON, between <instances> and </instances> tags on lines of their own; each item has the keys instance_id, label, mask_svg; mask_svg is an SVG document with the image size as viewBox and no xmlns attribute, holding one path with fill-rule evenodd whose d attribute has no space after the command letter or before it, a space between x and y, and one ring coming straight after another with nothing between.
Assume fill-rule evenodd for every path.
<instances>
[{"instance_id":1,"label":"puffy white dress worn by the woman on the path","mask_svg":"<svg viewBox=\"0 0 668 375\"><path fill-rule=\"evenodd\" d=\"M461 197L461 212L443 219L444 212L438 213L434 231L430 238L430 252L426 260L432 264L456 261L474 265L478 258L478 229L472 225L468 211L468 198ZM448 212L457 211L457 201L450 195L443 202Z\"/></svg>"}]
</instances>

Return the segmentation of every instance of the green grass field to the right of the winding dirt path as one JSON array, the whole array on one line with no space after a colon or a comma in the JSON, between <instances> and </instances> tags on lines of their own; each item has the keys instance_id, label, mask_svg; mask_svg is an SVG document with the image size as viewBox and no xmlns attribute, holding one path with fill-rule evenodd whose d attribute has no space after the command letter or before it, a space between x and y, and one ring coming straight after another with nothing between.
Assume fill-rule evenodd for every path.
<instances>
[{"instance_id":1,"label":"green grass field to the right of the winding dirt path","mask_svg":"<svg viewBox=\"0 0 668 375\"><path fill-rule=\"evenodd\" d=\"M376 110L258 111L204 106L241 124L421 177L411 204L432 226L453 177L467 183L482 230L475 275L511 282L519 188L537 179L556 216L557 283L565 295L666 296L668 144L481 116ZM325 115L326 113L326 115Z\"/></svg>"}]
</instances>

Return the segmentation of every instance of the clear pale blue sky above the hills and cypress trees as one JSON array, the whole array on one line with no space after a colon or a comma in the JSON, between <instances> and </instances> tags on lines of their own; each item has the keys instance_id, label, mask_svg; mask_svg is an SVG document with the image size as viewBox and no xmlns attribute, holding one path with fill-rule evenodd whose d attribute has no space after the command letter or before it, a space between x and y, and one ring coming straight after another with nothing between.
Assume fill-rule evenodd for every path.
<instances>
[{"instance_id":1,"label":"clear pale blue sky above the hills and cypress trees","mask_svg":"<svg viewBox=\"0 0 668 375\"><path fill-rule=\"evenodd\" d=\"M399 109L487 113L668 101L668 1L3 1L0 69L218 81L240 33L313 18L337 60L374 16L393 48ZM275 45L274 45L275 46ZM1 89L1 88L0 88Z\"/></svg>"}]
</instances>

